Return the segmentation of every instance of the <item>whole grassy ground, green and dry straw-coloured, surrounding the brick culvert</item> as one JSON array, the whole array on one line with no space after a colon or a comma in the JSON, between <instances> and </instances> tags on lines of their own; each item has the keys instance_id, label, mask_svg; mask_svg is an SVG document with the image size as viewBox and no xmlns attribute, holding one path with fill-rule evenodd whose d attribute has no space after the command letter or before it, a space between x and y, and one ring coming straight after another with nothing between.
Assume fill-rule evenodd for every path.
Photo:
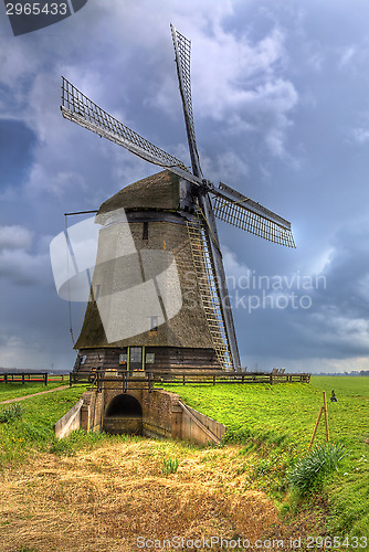
<instances>
[{"instance_id":1,"label":"whole grassy ground, green and dry straw-coloured, surrounding the brick culvert","mask_svg":"<svg viewBox=\"0 0 369 552\"><path fill-rule=\"evenodd\" d=\"M60 382L55 384L60 385ZM10 388L0 386L0 401L11 397L9 393L35 393L46 389L42 384L38 388L34 384L14 384ZM166 389L169 390L169 386ZM52 516L59 516L60 512L63 523L71 527L67 517L73 511L74 533L71 533L70 539L64 534L65 546L70 548L63 548L63 535L57 540L56 533L54 535L50 530L50 539L56 539L55 546L50 550L94 550L84 548L83 542L89 538L92 543L95 542L94 526L98 526L103 519L112 524L110 532L106 535L105 530L102 530L105 538L98 543L96 541L96 550L105 550L104 546L107 546L106 550L120 550L117 548L120 541L112 532L114 516L116 523L120 520L115 529L117 534L128 531L125 526L128 521L129 527L133 523L133 529L129 529L131 534L136 534L137 529L136 518L130 519L126 511L123 491L128 492L133 511L137 511L139 518L145 520L146 529L151 522L157 534L164 534L162 528L168 526L167 518L173 508L179 517L178 523L184 511L188 523L194 523L193 527L200 528L200 532L212 530L214 517L219 527L228 528L226 531L244 531L247 521L244 518L236 521L234 505L240 505L240 500L249 505L247 500L252 498L255 505L263 505L257 510L260 517L255 522L255 534L257 531L257 534L263 531L273 534L271 527L263 521L267 511L267 519L270 522L274 520L272 524L278 527L275 531L281 534L296 534L296 531L309 528L316 534L369 537L368 378L316 376L310 384L173 385L170 389L179 393L190 406L226 425L228 432L221 448L200 449L186 444L160 444L149 439L84 434L81 431L66 439L56 440L54 423L77 402L85 388L55 391L18 403L22 408L21 417L10 424L0 423L2 484L3 489L7 489L4 492L14 499L11 507L8 508L7 502L3 506L3 511L8 512L6 519L10 520L7 521L9 527L3 527L10 539L4 542L11 542L12 531L18 531L18 522L32 519L34 523L30 534L34 533L33 540L29 541L23 534L23 540L19 540L19 550L21 544L35 542L38 545L31 550L49 552L42 537L43 529L38 526L39 520L43 519L45 527L52 527ZM291 493L286 476L294 463L306 454L323 404L321 391L326 391L329 397L333 389L338 402L328 401L330 438L341 442L348 454L339 471L326 480L323 492L302 500ZM6 406L0 405L0 413ZM324 438L321 422L316 442L323 443ZM168 475L167 479L162 475L164 460L179 463L178 473ZM119 474L115 468L117 463ZM51 465L50 479L49 468L45 475L42 474L44 466ZM126 471L130 474L128 479ZM104 495L103 487L105 492L109 492L108 497ZM146 492L146 489L148 502L136 496L144 493L144 490ZM160 492L166 496L162 508L158 506ZM179 493L178 499L176 493ZM205 503L212 505L209 517L204 517L203 510L198 508L202 496L205 497ZM87 497L86 505L84 497ZM196 520L191 518L192 508L193 516L198 516ZM42 514L38 513L39 510ZM81 511L84 513L80 520ZM245 506L246 511L250 513L249 506ZM277 511L282 513L280 521L276 521ZM122 521L122 512L125 512L126 522ZM233 512L235 520L233 526L230 512ZM173 524L172 530L176 527ZM11 548L2 549L0 544L2 550L13 552ZM122 550L131 552L129 548ZM14 552L18 550L14 549Z\"/></svg>"}]
</instances>

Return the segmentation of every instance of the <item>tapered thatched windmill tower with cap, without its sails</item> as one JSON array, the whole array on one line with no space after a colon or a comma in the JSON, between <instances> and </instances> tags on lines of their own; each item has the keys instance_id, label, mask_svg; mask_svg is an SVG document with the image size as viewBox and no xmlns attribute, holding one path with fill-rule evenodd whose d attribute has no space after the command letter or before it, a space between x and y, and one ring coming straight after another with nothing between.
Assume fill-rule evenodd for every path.
<instances>
[{"instance_id":1,"label":"tapered thatched windmill tower with cap, without its sails","mask_svg":"<svg viewBox=\"0 0 369 552\"><path fill-rule=\"evenodd\" d=\"M214 308L204 309L197 282L191 246L202 255L203 236L189 237L196 203L188 188L162 171L99 208L92 294L75 344L78 371L223 368L225 347L209 327Z\"/></svg>"}]
</instances>

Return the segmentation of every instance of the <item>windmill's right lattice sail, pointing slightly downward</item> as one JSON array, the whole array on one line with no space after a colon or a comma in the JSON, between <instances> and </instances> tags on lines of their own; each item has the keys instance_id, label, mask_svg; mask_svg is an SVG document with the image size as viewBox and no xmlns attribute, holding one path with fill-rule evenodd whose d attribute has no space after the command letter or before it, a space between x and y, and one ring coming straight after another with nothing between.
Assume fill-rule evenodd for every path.
<instances>
[{"instance_id":1,"label":"windmill's right lattice sail, pointing slightly downward","mask_svg":"<svg viewBox=\"0 0 369 552\"><path fill-rule=\"evenodd\" d=\"M215 197L213 211L217 219L238 229L286 247L296 247L291 230L246 209L239 201Z\"/></svg>"}]
</instances>

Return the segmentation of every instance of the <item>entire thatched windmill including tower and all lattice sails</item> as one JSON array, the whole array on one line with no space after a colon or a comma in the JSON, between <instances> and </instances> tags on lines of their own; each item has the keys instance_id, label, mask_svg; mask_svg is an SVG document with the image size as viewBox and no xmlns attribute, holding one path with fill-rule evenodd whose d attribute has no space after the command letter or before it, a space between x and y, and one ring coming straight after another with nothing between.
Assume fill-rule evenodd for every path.
<instances>
[{"instance_id":1,"label":"entire thatched windmill including tower and all lattice sails","mask_svg":"<svg viewBox=\"0 0 369 552\"><path fill-rule=\"evenodd\" d=\"M91 297L75 370L240 370L215 216L294 247L285 219L203 178L190 85L190 41L171 26L192 164L190 171L94 104L63 77L65 118L164 172L102 204Z\"/></svg>"}]
</instances>

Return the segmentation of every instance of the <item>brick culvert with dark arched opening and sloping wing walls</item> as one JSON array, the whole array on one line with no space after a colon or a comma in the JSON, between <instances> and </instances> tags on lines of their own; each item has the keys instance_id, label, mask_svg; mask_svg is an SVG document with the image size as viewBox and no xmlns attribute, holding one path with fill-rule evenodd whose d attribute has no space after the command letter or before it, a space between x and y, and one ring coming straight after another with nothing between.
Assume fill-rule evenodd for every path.
<instances>
[{"instance_id":1,"label":"brick culvert with dark arched opening and sloping wing walls","mask_svg":"<svg viewBox=\"0 0 369 552\"><path fill-rule=\"evenodd\" d=\"M99 381L55 424L55 435L66 437L81 427L86 432L145 435L207 445L220 444L225 426L182 403L177 393L148 388L146 379ZM126 383L128 386L126 386Z\"/></svg>"}]
</instances>

